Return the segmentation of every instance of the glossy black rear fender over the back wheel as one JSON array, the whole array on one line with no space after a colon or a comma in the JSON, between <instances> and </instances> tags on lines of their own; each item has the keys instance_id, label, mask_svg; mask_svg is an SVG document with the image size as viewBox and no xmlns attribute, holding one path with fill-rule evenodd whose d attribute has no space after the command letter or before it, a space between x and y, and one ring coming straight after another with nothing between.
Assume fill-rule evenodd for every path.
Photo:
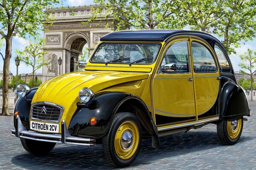
<instances>
[{"instance_id":1,"label":"glossy black rear fender over the back wheel","mask_svg":"<svg viewBox=\"0 0 256 170\"><path fill-rule=\"evenodd\" d=\"M233 80L225 77L221 89L220 120L250 116L250 108L244 90Z\"/></svg>"}]
</instances>

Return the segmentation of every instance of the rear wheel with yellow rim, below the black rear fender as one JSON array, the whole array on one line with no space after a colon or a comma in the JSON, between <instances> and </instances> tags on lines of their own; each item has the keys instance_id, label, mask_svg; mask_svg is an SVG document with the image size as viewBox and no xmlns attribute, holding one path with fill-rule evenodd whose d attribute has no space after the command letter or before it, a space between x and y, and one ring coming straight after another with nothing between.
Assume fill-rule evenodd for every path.
<instances>
[{"instance_id":1,"label":"rear wheel with yellow rim, below the black rear fender","mask_svg":"<svg viewBox=\"0 0 256 170\"><path fill-rule=\"evenodd\" d=\"M224 120L217 124L219 139L224 144L235 144L243 130L243 118Z\"/></svg>"}]
</instances>

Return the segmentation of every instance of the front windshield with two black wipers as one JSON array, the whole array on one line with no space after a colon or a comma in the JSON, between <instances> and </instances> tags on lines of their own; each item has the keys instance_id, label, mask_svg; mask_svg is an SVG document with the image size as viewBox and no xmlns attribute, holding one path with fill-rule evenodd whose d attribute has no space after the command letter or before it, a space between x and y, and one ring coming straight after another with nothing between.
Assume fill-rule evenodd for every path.
<instances>
[{"instance_id":1,"label":"front windshield with two black wipers","mask_svg":"<svg viewBox=\"0 0 256 170\"><path fill-rule=\"evenodd\" d=\"M102 43L99 45L91 62L151 64L155 61L160 44Z\"/></svg>"}]
</instances>

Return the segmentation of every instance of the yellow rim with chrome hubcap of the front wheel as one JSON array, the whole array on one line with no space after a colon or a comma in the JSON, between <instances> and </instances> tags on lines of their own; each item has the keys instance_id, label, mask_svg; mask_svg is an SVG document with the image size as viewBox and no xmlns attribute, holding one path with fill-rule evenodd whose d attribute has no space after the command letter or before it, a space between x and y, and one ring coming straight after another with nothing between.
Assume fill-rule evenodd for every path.
<instances>
[{"instance_id":1,"label":"yellow rim with chrome hubcap of the front wheel","mask_svg":"<svg viewBox=\"0 0 256 170\"><path fill-rule=\"evenodd\" d=\"M139 130L134 122L126 121L119 126L115 136L116 154L121 159L129 159L136 152L139 145Z\"/></svg>"}]
</instances>

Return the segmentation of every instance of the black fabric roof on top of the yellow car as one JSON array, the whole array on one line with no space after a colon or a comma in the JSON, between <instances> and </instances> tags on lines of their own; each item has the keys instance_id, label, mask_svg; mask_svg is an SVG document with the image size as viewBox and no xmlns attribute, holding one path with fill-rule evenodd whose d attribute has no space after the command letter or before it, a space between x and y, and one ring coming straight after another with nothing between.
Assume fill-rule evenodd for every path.
<instances>
[{"instance_id":1,"label":"black fabric roof on top of the yellow car","mask_svg":"<svg viewBox=\"0 0 256 170\"><path fill-rule=\"evenodd\" d=\"M125 41L132 41L132 40L141 40L141 41L165 41L168 37L171 37L175 34L204 34L211 36L205 32L201 31L188 31L188 30L137 30L137 31L116 31L112 32L104 37L101 37L101 41L113 41L113 40L125 40ZM216 39L217 40L217 39Z\"/></svg>"}]
</instances>

